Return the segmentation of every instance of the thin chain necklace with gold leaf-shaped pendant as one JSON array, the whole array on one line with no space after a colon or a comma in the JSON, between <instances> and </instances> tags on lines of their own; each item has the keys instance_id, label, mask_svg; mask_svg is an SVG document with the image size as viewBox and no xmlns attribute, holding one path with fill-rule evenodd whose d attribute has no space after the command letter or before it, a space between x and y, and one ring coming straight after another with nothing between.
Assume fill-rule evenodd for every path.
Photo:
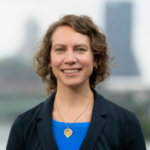
<instances>
[{"instance_id":1,"label":"thin chain necklace with gold leaf-shaped pendant","mask_svg":"<svg viewBox=\"0 0 150 150\"><path fill-rule=\"evenodd\" d=\"M92 95L92 97L93 97L93 95ZM91 97L91 99L92 99L92 97ZM87 109L87 107L89 106L89 104L90 104L90 102L91 102L91 99L90 99L90 101L89 101L89 103L88 103L88 105L86 106L86 108L83 110L83 112L79 115L79 117L84 113L84 111ZM56 102L55 102L56 103ZM56 107L57 107L57 110L58 110L58 114L59 114L59 116L61 117L61 119L63 120L63 122L65 123L65 125L67 126L67 128L64 130L64 134L65 134L65 136L67 137L67 138L69 138L72 134L73 134L73 131L69 128L73 123L75 123L75 121L79 118L77 118L77 119L75 119L75 121L72 123L72 124L70 124L69 126L66 124L66 122L64 121L64 119L62 118L62 116L60 115L60 113L59 113L59 109L58 109L58 106L57 106L57 103L56 103Z\"/></svg>"}]
</instances>

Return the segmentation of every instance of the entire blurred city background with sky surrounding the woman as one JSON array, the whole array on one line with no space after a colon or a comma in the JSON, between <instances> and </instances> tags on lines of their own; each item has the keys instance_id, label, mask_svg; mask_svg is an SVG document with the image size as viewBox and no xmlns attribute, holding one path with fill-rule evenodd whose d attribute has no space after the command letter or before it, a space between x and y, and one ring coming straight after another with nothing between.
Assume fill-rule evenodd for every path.
<instances>
[{"instance_id":1,"label":"entire blurred city background with sky surrounding the woman","mask_svg":"<svg viewBox=\"0 0 150 150\"><path fill-rule=\"evenodd\" d=\"M88 15L106 34L116 67L96 90L137 115L150 150L149 8L149 0L0 0L0 150L14 119L47 98L29 64L63 14Z\"/></svg>"}]
</instances>

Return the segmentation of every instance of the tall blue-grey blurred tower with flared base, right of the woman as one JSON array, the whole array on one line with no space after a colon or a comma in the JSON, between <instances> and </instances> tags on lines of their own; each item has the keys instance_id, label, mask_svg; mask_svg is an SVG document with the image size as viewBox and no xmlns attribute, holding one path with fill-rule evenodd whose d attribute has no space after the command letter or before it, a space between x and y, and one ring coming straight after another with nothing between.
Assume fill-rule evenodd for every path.
<instances>
[{"instance_id":1,"label":"tall blue-grey blurred tower with flared base, right of the woman","mask_svg":"<svg viewBox=\"0 0 150 150\"><path fill-rule=\"evenodd\" d=\"M108 46L115 54L113 76L139 76L131 50L132 3L107 2L105 29Z\"/></svg>"}]
</instances>

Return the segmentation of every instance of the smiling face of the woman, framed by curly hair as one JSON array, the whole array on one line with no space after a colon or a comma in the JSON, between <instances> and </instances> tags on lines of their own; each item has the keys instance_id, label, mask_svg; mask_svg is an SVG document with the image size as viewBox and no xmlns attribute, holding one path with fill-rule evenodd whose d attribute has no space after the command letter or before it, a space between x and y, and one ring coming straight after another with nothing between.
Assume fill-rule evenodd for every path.
<instances>
[{"instance_id":1,"label":"smiling face of the woman, framed by curly hair","mask_svg":"<svg viewBox=\"0 0 150 150\"><path fill-rule=\"evenodd\" d=\"M69 26L61 26L54 31L49 67L57 78L57 86L89 85L94 65L88 36Z\"/></svg>"}]
</instances>

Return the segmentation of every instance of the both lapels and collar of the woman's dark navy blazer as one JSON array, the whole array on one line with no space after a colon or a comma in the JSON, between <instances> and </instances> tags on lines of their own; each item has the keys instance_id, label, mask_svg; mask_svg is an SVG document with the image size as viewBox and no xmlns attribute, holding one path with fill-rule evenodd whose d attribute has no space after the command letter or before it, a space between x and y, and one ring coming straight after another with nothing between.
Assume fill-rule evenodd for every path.
<instances>
[{"instance_id":1,"label":"both lapels and collar of the woman's dark navy blazer","mask_svg":"<svg viewBox=\"0 0 150 150\"><path fill-rule=\"evenodd\" d=\"M105 125L105 120L103 119L103 117L107 115L105 99L99 95L96 90L92 89L92 91L94 93L92 118L87 134L80 146L80 150L93 149ZM37 117L38 120L40 119L37 126L43 150L47 150L47 148L58 150L51 127L54 98L55 94L52 94L49 98L47 98L47 100L43 103L40 113Z\"/></svg>"}]
</instances>

